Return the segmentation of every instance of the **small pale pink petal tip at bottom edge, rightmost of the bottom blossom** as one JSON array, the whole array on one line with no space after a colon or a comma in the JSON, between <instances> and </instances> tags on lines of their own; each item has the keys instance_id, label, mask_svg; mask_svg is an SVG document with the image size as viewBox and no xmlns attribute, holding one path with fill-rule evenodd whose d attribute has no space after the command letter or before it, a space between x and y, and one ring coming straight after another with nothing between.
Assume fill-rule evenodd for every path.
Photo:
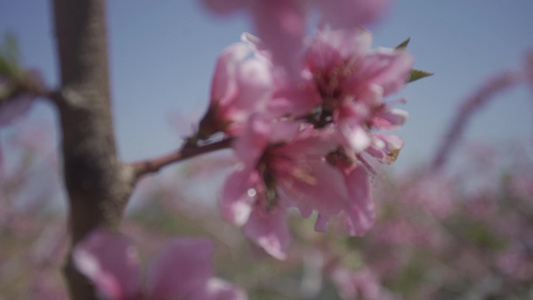
<instances>
[{"instance_id":1,"label":"small pale pink petal tip at bottom edge, rightmost of the bottom blossom","mask_svg":"<svg viewBox=\"0 0 533 300\"><path fill-rule=\"evenodd\" d=\"M218 278L211 278L190 300L247 300L242 289Z\"/></svg>"}]
</instances>

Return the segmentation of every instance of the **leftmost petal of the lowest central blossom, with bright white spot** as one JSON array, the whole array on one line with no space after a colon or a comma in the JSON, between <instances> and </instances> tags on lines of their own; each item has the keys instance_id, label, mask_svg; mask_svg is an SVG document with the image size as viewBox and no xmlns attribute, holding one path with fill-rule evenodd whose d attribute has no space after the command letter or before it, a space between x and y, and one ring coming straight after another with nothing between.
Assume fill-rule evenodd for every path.
<instances>
[{"instance_id":1,"label":"leftmost petal of the lowest central blossom, with bright white spot","mask_svg":"<svg viewBox=\"0 0 533 300\"><path fill-rule=\"evenodd\" d=\"M219 202L222 216L241 226L248 220L258 191L254 189L259 181L255 170L235 171L226 179Z\"/></svg>"}]
</instances>

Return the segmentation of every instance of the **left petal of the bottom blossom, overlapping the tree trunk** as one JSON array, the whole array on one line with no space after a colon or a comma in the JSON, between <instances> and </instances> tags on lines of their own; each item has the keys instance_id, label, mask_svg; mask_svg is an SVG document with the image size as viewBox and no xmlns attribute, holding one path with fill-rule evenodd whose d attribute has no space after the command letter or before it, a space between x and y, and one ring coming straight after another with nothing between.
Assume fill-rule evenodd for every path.
<instances>
[{"instance_id":1,"label":"left petal of the bottom blossom, overlapping the tree trunk","mask_svg":"<svg viewBox=\"0 0 533 300\"><path fill-rule=\"evenodd\" d=\"M75 247L72 259L105 297L127 300L139 295L137 253L123 237L94 231Z\"/></svg>"}]
</instances>

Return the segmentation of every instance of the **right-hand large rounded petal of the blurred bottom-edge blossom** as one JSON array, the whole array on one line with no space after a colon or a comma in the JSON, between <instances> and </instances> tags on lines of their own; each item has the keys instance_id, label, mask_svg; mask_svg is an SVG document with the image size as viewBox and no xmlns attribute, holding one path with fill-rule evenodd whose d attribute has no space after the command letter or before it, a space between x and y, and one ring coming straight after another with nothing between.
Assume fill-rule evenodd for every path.
<instances>
[{"instance_id":1,"label":"right-hand large rounded petal of the blurred bottom-edge blossom","mask_svg":"<svg viewBox=\"0 0 533 300\"><path fill-rule=\"evenodd\" d=\"M174 239L148 270L147 288L154 299L187 299L213 276L213 243L204 238Z\"/></svg>"}]
</instances>

